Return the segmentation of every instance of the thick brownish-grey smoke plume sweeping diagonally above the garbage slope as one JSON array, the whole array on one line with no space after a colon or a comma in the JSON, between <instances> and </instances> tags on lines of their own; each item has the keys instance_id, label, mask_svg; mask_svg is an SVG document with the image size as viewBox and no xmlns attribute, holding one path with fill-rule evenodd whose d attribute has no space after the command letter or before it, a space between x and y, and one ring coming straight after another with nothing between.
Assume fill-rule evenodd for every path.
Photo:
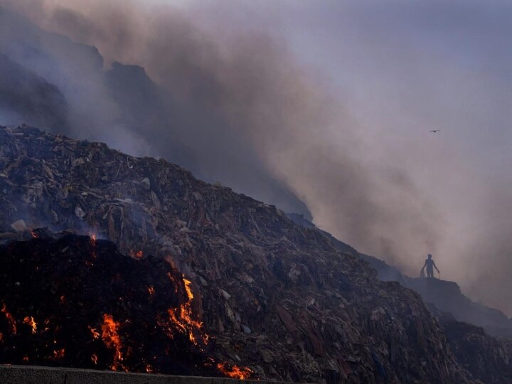
<instances>
[{"instance_id":1,"label":"thick brownish-grey smoke plume sweeping diagonally above the garbage slope","mask_svg":"<svg viewBox=\"0 0 512 384\"><path fill-rule=\"evenodd\" d=\"M233 20L223 11L163 1L1 4L87 45L73 48L71 60L71 41L55 43L55 36L37 38L38 31L20 30L20 36L39 39L53 61L28 58L12 46L7 53L63 93L69 112L61 130L66 133L130 154L164 157L287 211L307 215L309 208L322 229L413 275L427 253L442 255L436 261L443 277L469 290L484 275L497 273L478 260L479 252L492 252L498 265L510 270L510 246L496 240L510 220L503 218L503 227L493 233L481 230L461 209L471 199L457 200L464 188L474 186L465 178L464 151L434 144L432 137L425 137L428 145L410 134L400 145L388 139L385 129L395 127L386 112L378 111L378 102L368 100L368 120L356 118L350 95L340 95L329 79L306 68L276 30L263 33L249 17L244 25L230 27ZM230 14L233 4L218 6ZM257 8L239 6L249 14ZM364 37L361 41L368 40ZM407 92L402 96L409 97ZM412 125L413 112L397 114ZM457 160L445 164L450 154ZM436 174L425 171L420 157ZM439 185L449 187L444 188L447 200ZM501 198L505 205L511 201ZM457 209L450 209L449 201L458 201ZM482 208L486 223L494 220L495 207ZM476 244L491 245L484 251ZM482 267L486 274L479 274ZM505 302L511 292L506 276L496 281L494 288L487 282L489 294L479 297L512 311Z\"/></svg>"}]
</instances>

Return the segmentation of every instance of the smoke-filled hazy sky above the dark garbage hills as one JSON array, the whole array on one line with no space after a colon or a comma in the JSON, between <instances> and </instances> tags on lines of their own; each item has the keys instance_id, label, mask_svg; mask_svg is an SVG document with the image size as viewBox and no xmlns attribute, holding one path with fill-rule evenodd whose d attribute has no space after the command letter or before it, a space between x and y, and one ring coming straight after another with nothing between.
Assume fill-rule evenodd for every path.
<instances>
[{"instance_id":1,"label":"smoke-filled hazy sky above the dark garbage hills","mask_svg":"<svg viewBox=\"0 0 512 384\"><path fill-rule=\"evenodd\" d=\"M430 252L444 279L512 315L511 2L38 1L107 34L11 3L164 85L162 41L185 31L194 68L237 95L217 105L226 121L317 225L411 275ZM154 28L164 9L187 28Z\"/></svg>"}]
</instances>

